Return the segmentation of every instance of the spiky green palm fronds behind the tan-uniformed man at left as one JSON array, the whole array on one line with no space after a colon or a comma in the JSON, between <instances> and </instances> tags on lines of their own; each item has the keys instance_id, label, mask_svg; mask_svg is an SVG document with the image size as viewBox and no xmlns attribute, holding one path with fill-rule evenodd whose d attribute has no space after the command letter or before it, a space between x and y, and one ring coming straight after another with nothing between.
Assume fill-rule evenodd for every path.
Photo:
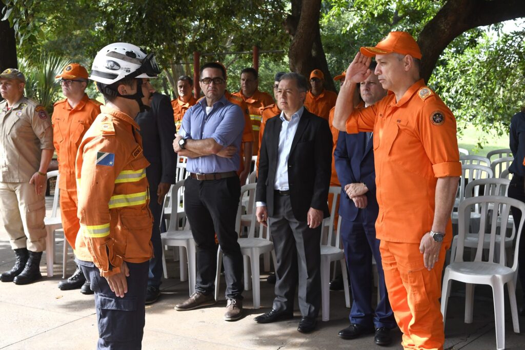
<instances>
[{"instance_id":1,"label":"spiky green palm fronds behind the tan-uniformed man at left","mask_svg":"<svg viewBox=\"0 0 525 350\"><path fill-rule=\"evenodd\" d=\"M67 66L69 60L56 56L42 56L37 62L19 60L20 71L26 77L25 96L39 102L48 113L53 113L53 103L61 92L55 76Z\"/></svg>"}]
</instances>

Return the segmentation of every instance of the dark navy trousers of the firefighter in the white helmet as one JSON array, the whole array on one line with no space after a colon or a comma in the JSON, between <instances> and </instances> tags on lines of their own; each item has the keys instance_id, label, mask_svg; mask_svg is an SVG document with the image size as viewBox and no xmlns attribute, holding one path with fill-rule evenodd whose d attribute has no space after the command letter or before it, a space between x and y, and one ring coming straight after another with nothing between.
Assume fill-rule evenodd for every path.
<instances>
[{"instance_id":1,"label":"dark navy trousers of the firefighter in the white helmet","mask_svg":"<svg viewBox=\"0 0 525 350\"><path fill-rule=\"evenodd\" d=\"M92 262L78 261L82 272L89 276L95 292L95 307L99 330L98 350L138 350L142 348L145 323L146 287L149 262L127 262L128 293L117 298L106 278Z\"/></svg>"}]
</instances>

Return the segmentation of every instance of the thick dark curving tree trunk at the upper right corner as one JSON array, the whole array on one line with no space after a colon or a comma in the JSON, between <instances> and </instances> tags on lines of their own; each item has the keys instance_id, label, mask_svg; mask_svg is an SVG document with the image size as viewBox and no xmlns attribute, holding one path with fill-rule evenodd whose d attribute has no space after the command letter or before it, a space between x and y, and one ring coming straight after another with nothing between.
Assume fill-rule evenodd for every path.
<instances>
[{"instance_id":1,"label":"thick dark curving tree trunk at the upper right corner","mask_svg":"<svg viewBox=\"0 0 525 350\"><path fill-rule=\"evenodd\" d=\"M524 16L523 0L448 0L417 39L423 55L421 77L428 81L443 50L461 33Z\"/></svg>"}]
</instances>

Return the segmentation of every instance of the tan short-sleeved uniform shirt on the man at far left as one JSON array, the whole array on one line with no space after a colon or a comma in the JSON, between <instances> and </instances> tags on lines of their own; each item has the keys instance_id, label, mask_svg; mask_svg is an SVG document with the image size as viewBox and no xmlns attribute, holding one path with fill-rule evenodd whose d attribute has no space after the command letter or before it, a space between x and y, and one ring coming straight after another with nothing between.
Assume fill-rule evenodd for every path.
<instances>
[{"instance_id":1,"label":"tan short-sleeved uniform shirt on the man at far left","mask_svg":"<svg viewBox=\"0 0 525 350\"><path fill-rule=\"evenodd\" d=\"M12 108L0 102L0 182L28 182L38 171L41 150L53 150L46 109L22 97Z\"/></svg>"}]
</instances>

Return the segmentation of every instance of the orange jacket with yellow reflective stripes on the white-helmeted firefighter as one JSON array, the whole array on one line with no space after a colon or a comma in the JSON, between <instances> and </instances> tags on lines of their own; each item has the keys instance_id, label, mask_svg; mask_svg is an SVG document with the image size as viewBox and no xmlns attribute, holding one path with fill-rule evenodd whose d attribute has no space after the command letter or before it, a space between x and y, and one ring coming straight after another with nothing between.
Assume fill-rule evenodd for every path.
<instances>
[{"instance_id":1,"label":"orange jacket with yellow reflective stripes on the white-helmeted firefighter","mask_svg":"<svg viewBox=\"0 0 525 350\"><path fill-rule=\"evenodd\" d=\"M139 125L127 114L101 107L83 137L76 161L80 232L76 256L92 261L103 277L122 261L152 257L146 161Z\"/></svg>"}]
</instances>

